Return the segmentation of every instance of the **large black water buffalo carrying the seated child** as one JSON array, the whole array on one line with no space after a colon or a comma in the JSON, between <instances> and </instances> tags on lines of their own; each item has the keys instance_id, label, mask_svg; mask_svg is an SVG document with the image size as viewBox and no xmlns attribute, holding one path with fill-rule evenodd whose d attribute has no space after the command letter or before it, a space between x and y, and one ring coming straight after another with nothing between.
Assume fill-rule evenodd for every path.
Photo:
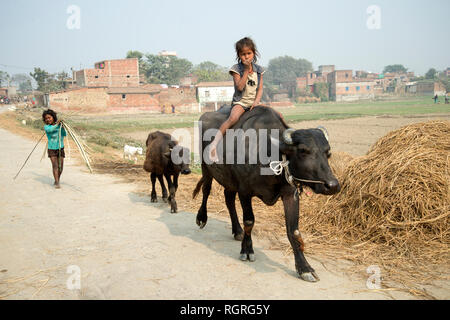
<instances>
[{"instance_id":1,"label":"large black water buffalo carrying the seated child","mask_svg":"<svg viewBox=\"0 0 450 320\"><path fill-rule=\"evenodd\" d=\"M227 119L229 112L230 107L203 114L200 117L202 134L205 135L208 129L219 128L220 124ZM328 158L331 154L326 133L321 129L290 129L273 109L262 106L244 113L231 129L242 129L243 132L255 129L253 131L262 132L263 137L267 131L264 139L267 142L258 138L258 145L255 147L251 145L248 138L241 136L237 138L238 143L236 144L233 141L233 144L230 144L232 148L227 150L227 137L233 134L232 131L227 131L222 140L223 147L219 143L217 148L221 160L218 163L207 164L205 161L210 163L209 158L203 158L202 178L193 192L194 197L199 193L200 188L203 192L202 205L197 213L197 224L200 228L206 225L208 219L207 201L212 180L215 179L225 188L225 199L231 217L232 233L236 240L242 240L240 259L254 261L251 232L255 218L252 210L252 198L258 197L266 205L271 206L281 197L284 205L287 236L294 251L296 270L302 279L310 282L317 281L317 274L303 254L304 244L298 231L298 192L301 192L302 186L308 186L315 193L326 195L337 193L340 190L339 182L334 177L328 164ZM274 139L273 135L270 137L271 132L276 131L279 133L279 139ZM210 137L212 136L210 134ZM208 139L203 138L202 140ZM236 152L237 148L242 148L242 144L239 147L239 141L244 143L244 147L240 149L242 151ZM210 141L201 142L201 151L205 156L209 154L209 148L207 148L209 143ZM261 169L269 169L269 163L264 164L258 160L256 164L251 164L254 162L249 161L251 156L258 153L258 148L264 143L267 144L268 150L278 146L277 154L270 155L271 159L283 160L283 162L270 163L271 167L278 164L278 168L274 168L278 169L278 175L262 175ZM221 152L221 148L223 152ZM224 161L225 158L221 158L221 154L228 157L230 152L232 152L230 158L234 161L238 156L245 156L245 164L235 164L236 162L230 164L228 161ZM243 210L244 231L236 214L236 194L239 196Z\"/></svg>"}]
</instances>

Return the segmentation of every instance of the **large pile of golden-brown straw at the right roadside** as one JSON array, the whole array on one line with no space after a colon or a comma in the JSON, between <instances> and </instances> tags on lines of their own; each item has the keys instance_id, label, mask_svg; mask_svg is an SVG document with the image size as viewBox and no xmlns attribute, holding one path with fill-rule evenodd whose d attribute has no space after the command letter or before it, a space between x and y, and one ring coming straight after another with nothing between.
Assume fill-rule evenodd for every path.
<instances>
[{"instance_id":1,"label":"large pile of golden-brown straw at the right roadside","mask_svg":"<svg viewBox=\"0 0 450 320\"><path fill-rule=\"evenodd\" d=\"M448 267L449 121L392 131L351 161L340 182L318 214L307 213L306 231L319 242L348 246L348 259L383 266L409 288Z\"/></svg>"}]
</instances>

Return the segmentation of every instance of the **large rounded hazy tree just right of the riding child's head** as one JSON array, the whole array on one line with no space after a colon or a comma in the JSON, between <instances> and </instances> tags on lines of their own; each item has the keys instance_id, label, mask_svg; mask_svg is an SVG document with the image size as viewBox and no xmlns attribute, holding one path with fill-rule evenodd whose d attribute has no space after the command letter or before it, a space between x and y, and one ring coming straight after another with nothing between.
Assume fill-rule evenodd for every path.
<instances>
[{"instance_id":1,"label":"large rounded hazy tree just right of the riding child's head","mask_svg":"<svg viewBox=\"0 0 450 320\"><path fill-rule=\"evenodd\" d=\"M295 82L298 77L305 76L312 70L312 63L306 59L295 59L290 56L278 57L269 61L264 81L271 85Z\"/></svg>"}]
</instances>

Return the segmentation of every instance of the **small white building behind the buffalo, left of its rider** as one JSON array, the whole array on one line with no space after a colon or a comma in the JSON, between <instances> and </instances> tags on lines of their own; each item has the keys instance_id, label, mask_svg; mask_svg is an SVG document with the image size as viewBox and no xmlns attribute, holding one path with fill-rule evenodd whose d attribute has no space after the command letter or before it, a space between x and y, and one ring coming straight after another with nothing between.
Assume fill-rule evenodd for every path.
<instances>
[{"instance_id":1,"label":"small white building behind the buffalo, left of its rider","mask_svg":"<svg viewBox=\"0 0 450 320\"><path fill-rule=\"evenodd\" d=\"M196 85L197 98L199 102L199 112L207 103L214 103L214 109L217 110L218 103L231 104L234 94L234 82L200 82Z\"/></svg>"}]
</instances>

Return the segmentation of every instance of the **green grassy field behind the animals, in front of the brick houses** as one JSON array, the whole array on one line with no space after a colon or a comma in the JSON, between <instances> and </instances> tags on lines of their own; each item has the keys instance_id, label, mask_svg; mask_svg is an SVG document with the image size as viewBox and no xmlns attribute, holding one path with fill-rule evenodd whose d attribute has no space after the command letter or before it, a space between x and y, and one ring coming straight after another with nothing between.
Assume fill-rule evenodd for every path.
<instances>
[{"instance_id":1,"label":"green grassy field behind the animals, in front of the brick houses","mask_svg":"<svg viewBox=\"0 0 450 320\"><path fill-rule=\"evenodd\" d=\"M307 120L344 119L352 117L376 115L418 115L433 113L450 113L450 105L434 104L431 97L398 98L395 100L364 101L353 103L308 103L294 107L278 108L288 123ZM42 126L40 115L35 115L33 126ZM133 141L123 135L133 132L151 132L158 129L192 128L200 117L194 114L135 114L135 115L104 115L81 116L64 115L71 126L83 135L90 143L98 146L109 146L120 149L125 143L143 144L143 141ZM22 120L24 117L18 117Z\"/></svg>"}]
</instances>

